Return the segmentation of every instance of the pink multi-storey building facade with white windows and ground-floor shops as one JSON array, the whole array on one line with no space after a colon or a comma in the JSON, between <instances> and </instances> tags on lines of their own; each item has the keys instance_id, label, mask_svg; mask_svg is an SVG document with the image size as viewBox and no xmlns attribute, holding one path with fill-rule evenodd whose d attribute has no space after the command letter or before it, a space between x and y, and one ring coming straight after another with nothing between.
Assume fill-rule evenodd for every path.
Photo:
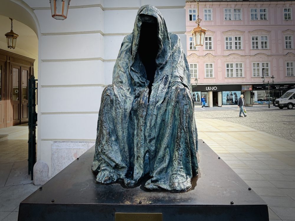
<instances>
[{"instance_id":1,"label":"pink multi-storey building facade with white windows and ground-floor shops","mask_svg":"<svg viewBox=\"0 0 295 221\"><path fill-rule=\"evenodd\" d=\"M294 3L294 2L293 2ZM200 26L208 31L202 47L194 47L197 3L186 1L187 59L195 104L272 104L295 88L295 4L292 1L200 1ZM270 86L265 82L275 82ZM198 84L195 85L195 78Z\"/></svg>"}]
</instances>

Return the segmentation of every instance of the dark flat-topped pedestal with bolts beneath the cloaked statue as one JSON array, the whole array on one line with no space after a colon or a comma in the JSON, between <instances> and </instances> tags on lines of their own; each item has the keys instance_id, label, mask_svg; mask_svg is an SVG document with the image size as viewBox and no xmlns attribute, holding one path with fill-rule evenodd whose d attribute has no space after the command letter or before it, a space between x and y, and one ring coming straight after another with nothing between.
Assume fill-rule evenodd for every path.
<instances>
[{"instance_id":1,"label":"dark flat-topped pedestal with bolts beneath the cloaked statue","mask_svg":"<svg viewBox=\"0 0 295 221\"><path fill-rule=\"evenodd\" d=\"M162 213L165 221L268 220L266 203L202 140L199 175L182 193L147 191L144 183L134 188L96 184L93 156L94 147L22 201L18 220L114 221L118 212Z\"/></svg>"}]
</instances>

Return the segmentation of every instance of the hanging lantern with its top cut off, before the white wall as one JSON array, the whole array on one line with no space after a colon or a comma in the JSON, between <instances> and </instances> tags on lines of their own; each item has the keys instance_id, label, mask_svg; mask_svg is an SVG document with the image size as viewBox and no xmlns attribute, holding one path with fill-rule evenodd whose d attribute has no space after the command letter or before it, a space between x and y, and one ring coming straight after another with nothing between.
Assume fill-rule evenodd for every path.
<instances>
[{"instance_id":1,"label":"hanging lantern with its top cut off, before the white wall","mask_svg":"<svg viewBox=\"0 0 295 221\"><path fill-rule=\"evenodd\" d=\"M50 0L52 17L64 20L68 16L68 9L71 0Z\"/></svg>"}]
</instances>

